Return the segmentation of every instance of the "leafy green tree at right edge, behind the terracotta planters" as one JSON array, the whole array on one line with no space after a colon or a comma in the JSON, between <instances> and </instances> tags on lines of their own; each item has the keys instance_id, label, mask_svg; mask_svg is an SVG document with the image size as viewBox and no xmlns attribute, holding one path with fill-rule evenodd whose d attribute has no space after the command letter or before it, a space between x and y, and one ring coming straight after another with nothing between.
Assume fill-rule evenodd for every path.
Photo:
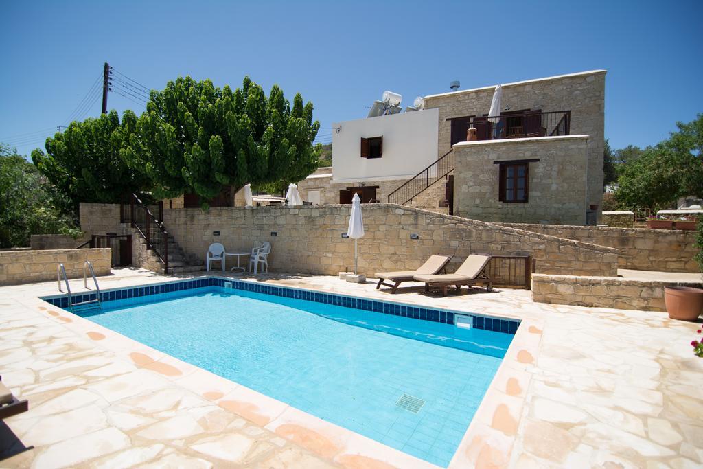
<instances>
[{"instance_id":1,"label":"leafy green tree at right edge, behind the terracotta planters","mask_svg":"<svg viewBox=\"0 0 703 469\"><path fill-rule=\"evenodd\" d=\"M669 140L623 165L616 200L626 207L671 207L686 195L703 197L703 114L677 122Z\"/></svg>"}]
</instances>

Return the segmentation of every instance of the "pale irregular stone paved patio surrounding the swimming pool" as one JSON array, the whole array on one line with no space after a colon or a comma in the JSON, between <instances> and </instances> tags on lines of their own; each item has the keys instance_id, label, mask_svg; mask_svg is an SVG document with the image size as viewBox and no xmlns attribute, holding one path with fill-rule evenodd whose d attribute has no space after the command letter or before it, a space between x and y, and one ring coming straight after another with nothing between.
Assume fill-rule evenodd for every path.
<instances>
[{"instance_id":1,"label":"pale irregular stone paved patio surrounding the swimming pool","mask_svg":"<svg viewBox=\"0 0 703 469\"><path fill-rule=\"evenodd\" d=\"M99 280L108 289L169 279L124 269ZM537 304L521 290L439 298L329 276L257 280L521 319L450 467L703 464L695 324ZM0 446L8 429L14 450L33 446L0 467L430 466L37 299L56 293L55 282L0 288L0 373L30 401L0 428Z\"/></svg>"}]
</instances>

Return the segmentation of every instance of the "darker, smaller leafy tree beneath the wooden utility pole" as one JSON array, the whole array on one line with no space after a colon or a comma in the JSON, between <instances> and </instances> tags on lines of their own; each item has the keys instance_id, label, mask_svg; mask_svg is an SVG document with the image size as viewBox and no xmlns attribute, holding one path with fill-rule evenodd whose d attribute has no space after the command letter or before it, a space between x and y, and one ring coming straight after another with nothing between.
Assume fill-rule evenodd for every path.
<instances>
[{"instance_id":1,"label":"darker, smaller leafy tree beneath the wooden utility pole","mask_svg":"<svg viewBox=\"0 0 703 469\"><path fill-rule=\"evenodd\" d=\"M122 196L144 188L143 172L130 168L120 157L136 116L124 112L122 123L117 111L72 122L63 133L46 139L46 153L32 152L39 172L65 195L75 210L81 202L117 203Z\"/></svg>"}]
</instances>

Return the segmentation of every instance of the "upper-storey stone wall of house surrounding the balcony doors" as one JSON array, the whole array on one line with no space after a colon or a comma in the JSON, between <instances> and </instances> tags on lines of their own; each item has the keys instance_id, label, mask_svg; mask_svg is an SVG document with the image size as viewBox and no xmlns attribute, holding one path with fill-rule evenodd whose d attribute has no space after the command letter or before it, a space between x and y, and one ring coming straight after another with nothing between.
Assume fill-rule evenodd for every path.
<instances>
[{"instance_id":1,"label":"upper-storey stone wall of house surrounding the balcony doors","mask_svg":"<svg viewBox=\"0 0 703 469\"><path fill-rule=\"evenodd\" d=\"M425 96L425 108L439 108L437 155L451 148L451 118L489 112L495 86ZM605 145L605 70L503 84L503 108L571 110L570 133L588 139L588 205L602 204ZM600 210L599 210L600 212Z\"/></svg>"}]
</instances>

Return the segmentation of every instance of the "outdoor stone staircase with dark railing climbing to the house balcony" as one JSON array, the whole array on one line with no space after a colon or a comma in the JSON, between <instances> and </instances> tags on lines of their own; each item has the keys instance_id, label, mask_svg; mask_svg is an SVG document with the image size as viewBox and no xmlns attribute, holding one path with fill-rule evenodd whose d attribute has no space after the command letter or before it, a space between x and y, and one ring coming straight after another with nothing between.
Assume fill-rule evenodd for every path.
<instances>
[{"instance_id":1,"label":"outdoor stone staircase with dark railing climbing to the house balcony","mask_svg":"<svg viewBox=\"0 0 703 469\"><path fill-rule=\"evenodd\" d=\"M454 171L454 150L444 153L432 165L415 174L404 182L395 191L388 194L388 203L398 205L411 205L413 207L424 208L434 212L448 213L449 207L439 207L439 201L444 200L444 187L439 191L435 184L438 181L446 181L449 174ZM433 188L438 194L432 194L423 198L423 193L429 188Z\"/></svg>"}]
</instances>

